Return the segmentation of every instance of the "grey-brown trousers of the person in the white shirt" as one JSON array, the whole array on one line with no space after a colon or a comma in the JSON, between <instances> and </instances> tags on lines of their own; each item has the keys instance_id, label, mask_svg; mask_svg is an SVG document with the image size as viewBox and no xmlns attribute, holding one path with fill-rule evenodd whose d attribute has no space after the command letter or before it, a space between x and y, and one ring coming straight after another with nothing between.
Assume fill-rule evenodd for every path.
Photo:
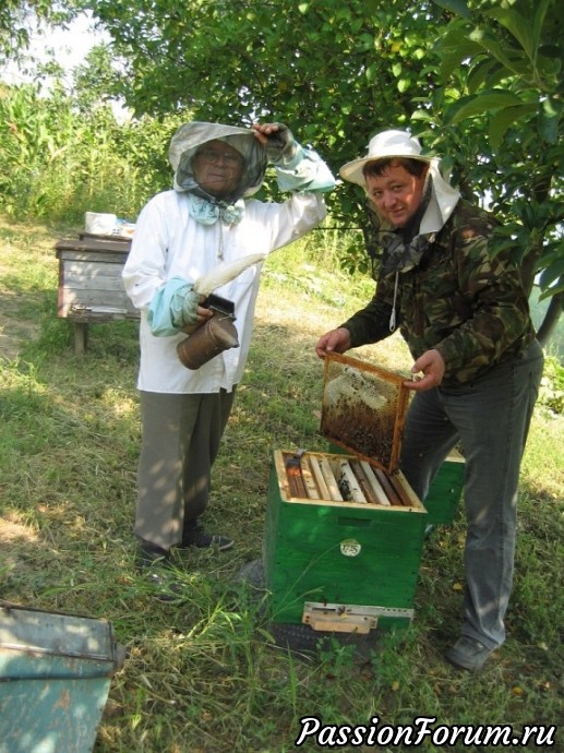
<instances>
[{"instance_id":1,"label":"grey-brown trousers of the person in the white shirt","mask_svg":"<svg viewBox=\"0 0 564 753\"><path fill-rule=\"evenodd\" d=\"M140 539L168 550L203 513L233 398L235 389L199 395L141 392L134 525Z\"/></svg>"}]
</instances>

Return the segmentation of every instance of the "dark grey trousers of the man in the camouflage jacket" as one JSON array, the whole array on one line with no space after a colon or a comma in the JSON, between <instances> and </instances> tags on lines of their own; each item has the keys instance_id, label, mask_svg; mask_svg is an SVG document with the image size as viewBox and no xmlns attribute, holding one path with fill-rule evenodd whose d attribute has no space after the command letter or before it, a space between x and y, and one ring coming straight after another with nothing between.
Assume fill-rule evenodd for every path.
<instances>
[{"instance_id":1,"label":"dark grey trousers of the man in the camouflage jacket","mask_svg":"<svg viewBox=\"0 0 564 753\"><path fill-rule=\"evenodd\" d=\"M399 464L423 501L449 450L461 442L467 517L461 632L492 649L505 641L519 469L542 367L535 342L468 385L417 393L406 421Z\"/></svg>"}]
</instances>

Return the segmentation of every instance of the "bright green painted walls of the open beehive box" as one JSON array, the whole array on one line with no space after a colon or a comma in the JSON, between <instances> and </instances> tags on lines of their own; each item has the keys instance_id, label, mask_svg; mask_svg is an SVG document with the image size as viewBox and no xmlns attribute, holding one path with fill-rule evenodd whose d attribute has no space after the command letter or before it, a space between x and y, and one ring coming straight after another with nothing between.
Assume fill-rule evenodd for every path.
<instances>
[{"instance_id":1,"label":"bright green painted walls of the open beehive box","mask_svg":"<svg viewBox=\"0 0 564 753\"><path fill-rule=\"evenodd\" d=\"M288 502L273 464L264 537L273 621L301 623L304 601L411 609L425 524L424 511ZM359 553L347 557L347 543Z\"/></svg>"}]
</instances>

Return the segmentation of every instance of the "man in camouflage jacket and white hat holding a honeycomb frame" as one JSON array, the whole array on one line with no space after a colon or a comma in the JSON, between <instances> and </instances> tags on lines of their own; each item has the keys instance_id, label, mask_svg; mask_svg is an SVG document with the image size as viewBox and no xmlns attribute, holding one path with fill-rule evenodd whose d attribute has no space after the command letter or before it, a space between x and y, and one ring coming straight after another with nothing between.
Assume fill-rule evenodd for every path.
<instances>
[{"instance_id":1,"label":"man in camouflage jacket and white hat holding a honeycomb frame","mask_svg":"<svg viewBox=\"0 0 564 753\"><path fill-rule=\"evenodd\" d=\"M399 326L415 359L400 468L424 500L452 447L466 457L466 589L453 665L480 669L505 641L519 467L542 375L518 268L493 259L496 222L463 201L404 131L374 136L340 175L361 186L383 250L365 308L316 351L376 343Z\"/></svg>"}]
</instances>

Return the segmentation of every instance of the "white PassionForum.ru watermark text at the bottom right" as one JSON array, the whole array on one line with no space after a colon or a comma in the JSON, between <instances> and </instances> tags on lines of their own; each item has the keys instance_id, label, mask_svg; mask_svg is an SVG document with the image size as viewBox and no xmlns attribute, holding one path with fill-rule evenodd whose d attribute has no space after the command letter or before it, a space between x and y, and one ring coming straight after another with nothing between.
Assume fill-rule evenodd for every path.
<instances>
[{"instance_id":1,"label":"white PassionForum.ru watermark text at the bottom right","mask_svg":"<svg viewBox=\"0 0 564 753\"><path fill-rule=\"evenodd\" d=\"M492 748L527 748L529 744L554 745L556 726L525 725L519 729L509 725L437 725L435 716L415 717L411 725L383 725L373 716L368 725L324 725L316 716L300 719L300 732L295 745L315 742L321 748L341 745L421 745L436 748L482 745Z\"/></svg>"}]
</instances>

